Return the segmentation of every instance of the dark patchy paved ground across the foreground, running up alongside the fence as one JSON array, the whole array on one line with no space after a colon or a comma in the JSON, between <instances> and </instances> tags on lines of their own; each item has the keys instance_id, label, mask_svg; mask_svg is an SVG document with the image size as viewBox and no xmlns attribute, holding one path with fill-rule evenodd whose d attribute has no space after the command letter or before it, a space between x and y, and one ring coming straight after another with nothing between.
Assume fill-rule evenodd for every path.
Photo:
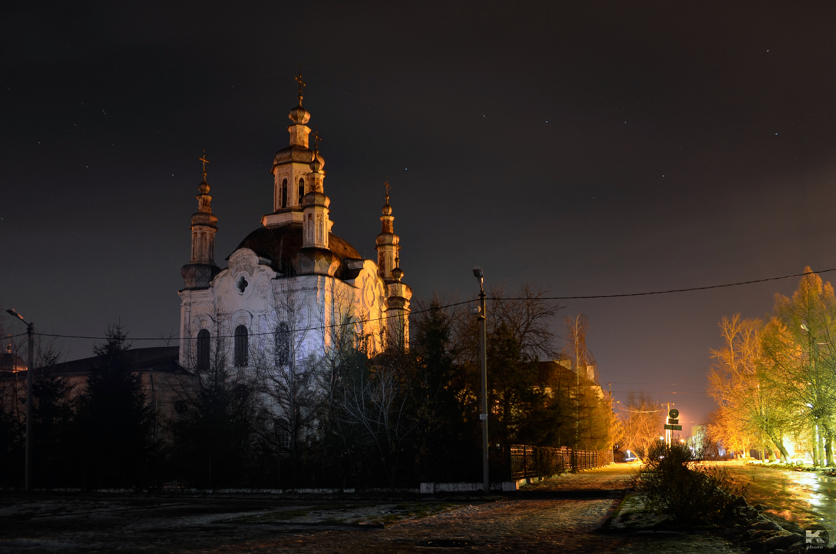
<instances>
[{"instance_id":1,"label":"dark patchy paved ground across the foreground, running up alongside the fence","mask_svg":"<svg viewBox=\"0 0 836 554\"><path fill-rule=\"evenodd\" d=\"M713 536L596 532L632 471L593 469L492 499L7 495L0 496L0 551L737 551ZM388 525L373 526L380 522Z\"/></svg>"}]
</instances>

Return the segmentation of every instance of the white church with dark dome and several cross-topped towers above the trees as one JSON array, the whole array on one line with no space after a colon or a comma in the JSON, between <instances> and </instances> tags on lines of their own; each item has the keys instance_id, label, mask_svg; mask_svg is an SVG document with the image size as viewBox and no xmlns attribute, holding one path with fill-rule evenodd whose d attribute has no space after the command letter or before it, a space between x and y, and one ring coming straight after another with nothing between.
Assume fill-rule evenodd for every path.
<instances>
[{"instance_id":1,"label":"white church with dark dome and several cross-topped towers above the trees","mask_svg":"<svg viewBox=\"0 0 836 554\"><path fill-rule=\"evenodd\" d=\"M206 182L191 216L191 260L181 269L181 367L285 367L351 345L373 356L409 343L412 291L401 280L400 239L386 203L375 249L377 261L332 232L325 195L325 161L311 114L298 105L288 115L290 143L273 158L273 207L227 257L215 261L217 216ZM313 147L309 138L314 139ZM371 238L370 238L371 239Z\"/></svg>"}]
</instances>

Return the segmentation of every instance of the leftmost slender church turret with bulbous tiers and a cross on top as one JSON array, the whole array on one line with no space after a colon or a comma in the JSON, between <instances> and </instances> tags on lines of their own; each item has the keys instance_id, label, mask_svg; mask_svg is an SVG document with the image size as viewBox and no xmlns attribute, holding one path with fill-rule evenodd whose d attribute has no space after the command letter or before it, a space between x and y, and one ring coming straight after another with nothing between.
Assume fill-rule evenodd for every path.
<instances>
[{"instance_id":1,"label":"leftmost slender church turret with bulbous tiers and a cross on top","mask_svg":"<svg viewBox=\"0 0 836 554\"><path fill-rule=\"evenodd\" d=\"M181 269L186 289L206 289L221 271L215 264L215 233L217 216L212 213L212 197L206 182L206 151L198 158L203 162L203 181L197 186L197 213L191 216L191 260Z\"/></svg>"}]
</instances>

